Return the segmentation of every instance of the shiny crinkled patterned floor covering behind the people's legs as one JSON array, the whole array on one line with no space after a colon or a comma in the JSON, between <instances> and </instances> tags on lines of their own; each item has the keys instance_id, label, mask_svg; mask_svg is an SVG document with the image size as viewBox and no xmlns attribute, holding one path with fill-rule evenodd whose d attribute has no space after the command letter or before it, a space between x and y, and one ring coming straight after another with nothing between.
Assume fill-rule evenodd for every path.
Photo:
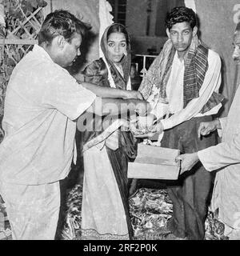
<instances>
[{"instance_id":1,"label":"shiny crinkled patterned floor covering behind the people's legs","mask_svg":"<svg viewBox=\"0 0 240 256\"><path fill-rule=\"evenodd\" d=\"M136 240L162 240L170 232L166 224L173 206L167 190L141 188L130 197L130 218ZM74 186L67 199L66 222L62 230L63 240L81 240L82 186ZM205 240L227 240L224 225L209 212L206 219Z\"/></svg>"}]
</instances>

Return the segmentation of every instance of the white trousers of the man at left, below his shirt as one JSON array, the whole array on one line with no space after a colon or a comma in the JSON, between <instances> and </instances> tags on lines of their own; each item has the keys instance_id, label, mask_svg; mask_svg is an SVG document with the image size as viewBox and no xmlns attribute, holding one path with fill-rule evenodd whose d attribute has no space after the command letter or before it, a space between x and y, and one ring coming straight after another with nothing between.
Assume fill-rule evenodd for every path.
<instances>
[{"instance_id":1,"label":"white trousers of the man at left, below his shirt","mask_svg":"<svg viewBox=\"0 0 240 256\"><path fill-rule=\"evenodd\" d=\"M60 208L59 182L19 185L0 182L14 240L54 240Z\"/></svg>"}]
</instances>

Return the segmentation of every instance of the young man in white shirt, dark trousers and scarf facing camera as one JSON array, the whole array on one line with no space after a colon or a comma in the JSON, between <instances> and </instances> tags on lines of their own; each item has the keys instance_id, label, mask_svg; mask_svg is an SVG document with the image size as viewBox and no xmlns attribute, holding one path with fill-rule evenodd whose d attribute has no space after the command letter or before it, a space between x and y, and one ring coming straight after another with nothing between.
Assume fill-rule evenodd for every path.
<instances>
[{"instance_id":1,"label":"young man in white shirt, dark trousers and scarf facing camera","mask_svg":"<svg viewBox=\"0 0 240 256\"><path fill-rule=\"evenodd\" d=\"M198 138L200 122L210 121L222 106L217 94L221 84L221 61L217 53L198 40L196 14L186 7L175 7L166 15L169 40L154 60L139 88L150 100L158 91L158 104L148 117L147 126L158 120L164 131L161 146L191 153L215 145L214 134ZM201 240L211 174L199 164L177 184L169 186L173 216L170 239Z\"/></svg>"}]
</instances>

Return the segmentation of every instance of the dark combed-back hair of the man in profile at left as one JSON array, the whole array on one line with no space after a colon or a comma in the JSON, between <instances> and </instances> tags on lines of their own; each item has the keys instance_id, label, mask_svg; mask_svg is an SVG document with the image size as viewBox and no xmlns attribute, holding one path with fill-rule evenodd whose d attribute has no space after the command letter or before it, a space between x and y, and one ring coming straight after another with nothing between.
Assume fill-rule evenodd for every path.
<instances>
[{"instance_id":1,"label":"dark combed-back hair of the man in profile at left","mask_svg":"<svg viewBox=\"0 0 240 256\"><path fill-rule=\"evenodd\" d=\"M70 42L74 33L81 34L83 37L90 28L89 24L80 21L69 11L55 10L48 14L42 23L38 33L38 44L42 45L45 42L49 46L58 35L62 35L66 41Z\"/></svg>"}]
</instances>

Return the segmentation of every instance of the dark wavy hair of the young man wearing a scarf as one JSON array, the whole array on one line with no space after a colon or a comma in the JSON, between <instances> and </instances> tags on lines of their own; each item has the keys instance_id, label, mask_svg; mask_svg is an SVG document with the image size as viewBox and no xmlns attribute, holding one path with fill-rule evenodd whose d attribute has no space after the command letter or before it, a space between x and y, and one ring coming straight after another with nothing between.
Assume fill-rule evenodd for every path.
<instances>
[{"instance_id":1,"label":"dark wavy hair of the young man wearing a scarf","mask_svg":"<svg viewBox=\"0 0 240 256\"><path fill-rule=\"evenodd\" d=\"M175 7L166 14L165 26L167 29L170 30L174 24L181 22L189 22L190 27L193 29L197 24L197 18L194 10L181 6Z\"/></svg>"}]
</instances>

